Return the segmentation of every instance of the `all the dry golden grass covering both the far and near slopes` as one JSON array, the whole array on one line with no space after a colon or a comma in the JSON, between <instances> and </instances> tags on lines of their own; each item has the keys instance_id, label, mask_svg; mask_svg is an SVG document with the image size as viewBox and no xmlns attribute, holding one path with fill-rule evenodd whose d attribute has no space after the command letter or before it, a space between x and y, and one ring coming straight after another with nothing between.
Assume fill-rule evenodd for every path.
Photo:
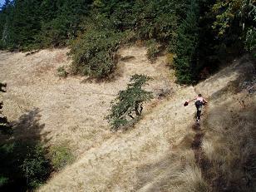
<instances>
[{"instance_id":1,"label":"all the dry golden grass covering both the far and near slopes","mask_svg":"<svg viewBox=\"0 0 256 192\"><path fill-rule=\"evenodd\" d=\"M59 79L57 67L70 63L66 52L0 53L0 80L8 85L4 113L22 123L37 115L37 126L14 134L31 133L47 145L66 140L77 157L40 191L254 190L256 97L241 89L255 76L252 59L245 56L198 86L180 87L170 80L165 57L151 64L144 47L120 50L113 81ZM134 128L111 133L103 117L135 72L154 77L147 89L155 100ZM168 89L163 99L160 93ZM194 105L183 106L199 92L209 100L200 126Z\"/></svg>"}]
</instances>

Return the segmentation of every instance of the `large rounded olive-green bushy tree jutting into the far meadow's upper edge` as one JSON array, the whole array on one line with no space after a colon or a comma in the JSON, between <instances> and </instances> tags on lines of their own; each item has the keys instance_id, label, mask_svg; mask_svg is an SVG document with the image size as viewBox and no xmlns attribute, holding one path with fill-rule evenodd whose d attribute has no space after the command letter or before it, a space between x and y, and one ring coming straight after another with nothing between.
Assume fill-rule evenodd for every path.
<instances>
[{"instance_id":1,"label":"large rounded olive-green bushy tree jutting into the far meadow's upper edge","mask_svg":"<svg viewBox=\"0 0 256 192\"><path fill-rule=\"evenodd\" d=\"M72 71L85 76L102 78L116 66L114 53L125 33L90 28L71 46Z\"/></svg>"}]
</instances>

